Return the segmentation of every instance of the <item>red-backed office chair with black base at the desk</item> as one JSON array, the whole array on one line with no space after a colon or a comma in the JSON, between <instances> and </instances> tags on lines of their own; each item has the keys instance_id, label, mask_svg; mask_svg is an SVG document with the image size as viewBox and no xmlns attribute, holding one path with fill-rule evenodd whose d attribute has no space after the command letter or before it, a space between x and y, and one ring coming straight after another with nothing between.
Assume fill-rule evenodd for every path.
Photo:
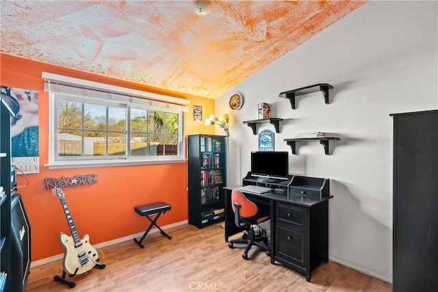
<instances>
[{"instance_id":1,"label":"red-backed office chair with black base at the desk","mask_svg":"<svg viewBox=\"0 0 438 292\"><path fill-rule=\"evenodd\" d=\"M228 243L229 248L233 248L234 243L246 243L244 259L248 258L248 251L253 245L266 250L266 254L270 254L268 246L268 237L266 235L255 235L253 225L265 222L270 219L269 208L262 209L257 207L257 204L248 200L242 192L233 189L231 192L231 207L234 211L234 222L240 228L246 228L246 233L242 239L233 239Z\"/></svg>"}]
</instances>

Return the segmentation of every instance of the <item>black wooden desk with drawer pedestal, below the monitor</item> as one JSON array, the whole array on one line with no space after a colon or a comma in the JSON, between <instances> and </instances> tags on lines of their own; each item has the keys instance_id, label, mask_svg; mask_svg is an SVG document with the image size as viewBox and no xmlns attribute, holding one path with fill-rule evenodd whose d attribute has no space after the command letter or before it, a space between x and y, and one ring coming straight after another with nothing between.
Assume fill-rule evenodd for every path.
<instances>
[{"instance_id":1,"label":"black wooden desk with drawer pedestal, below the monitor","mask_svg":"<svg viewBox=\"0 0 438 292\"><path fill-rule=\"evenodd\" d=\"M240 185L224 187L225 190L225 241L242 229L234 223L231 208L231 191ZM310 282L311 271L320 263L329 261L329 199L311 198L285 191L244 195L257 204L270 205L270 258L306 276Z\"/></svg>"}]
</instances>

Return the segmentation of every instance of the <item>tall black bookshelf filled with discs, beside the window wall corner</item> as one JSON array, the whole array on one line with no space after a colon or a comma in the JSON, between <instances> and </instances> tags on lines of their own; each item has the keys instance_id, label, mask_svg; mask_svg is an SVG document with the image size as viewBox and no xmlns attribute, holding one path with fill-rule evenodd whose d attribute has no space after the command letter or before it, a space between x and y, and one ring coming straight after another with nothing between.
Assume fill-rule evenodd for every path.
<instances>
[{"instance_id":1,"label":"tall black bookshelf filled with discs, beside the window wall corner","mask_svg":"<svg viewBox=\"0 0 438 292\"><path fill-rule=\"evenodd\" d=\"M198 228L224 220L225 142L220 135L188 136L189 224Z\"/></svg>"}]
</instances>

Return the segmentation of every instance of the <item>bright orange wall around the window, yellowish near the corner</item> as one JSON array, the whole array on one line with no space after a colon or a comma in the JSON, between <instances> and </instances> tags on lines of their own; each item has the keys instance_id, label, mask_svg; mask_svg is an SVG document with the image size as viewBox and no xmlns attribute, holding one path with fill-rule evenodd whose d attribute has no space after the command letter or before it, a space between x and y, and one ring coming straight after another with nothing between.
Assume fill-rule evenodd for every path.
<instances>
[{"instance_id":1,"label":"bright orange wall around the window, yellowish near the corner","mask_svg":"<svg viewBox=\"0 0 438 292\"><path fill-rule=\"evenodd\" d=\"M187 163L61 170L49 170L44 167L44 164L48 162L49 101L47 92L44 92L41 73L42 71L51 72L190 99L190 111L185 114L184 120L185 135L214 134L214 127L207 127L203 123L193 121L193 105L203 107L203 118L205 118L214 113L214 100L168 92L10 55L1 54L0 62L1 85L39 91L40 173L27 174L29 185L18 189L31 225L32 261L62 254L64 251L57 238L61 232L70 235L60 200L52 195L51 190L45 189L44 178L73 177L77 174L97 175L98 183L94 185L63 189L79 236L90 235L92 245L144 231L149 221L133 211L133 207L138 204L154 201L170 203L172 210L159 218L160 226L188 219ZM19 175L18 185L25 185L25 183L23 175Z\"/></svg>"}]
</instances>

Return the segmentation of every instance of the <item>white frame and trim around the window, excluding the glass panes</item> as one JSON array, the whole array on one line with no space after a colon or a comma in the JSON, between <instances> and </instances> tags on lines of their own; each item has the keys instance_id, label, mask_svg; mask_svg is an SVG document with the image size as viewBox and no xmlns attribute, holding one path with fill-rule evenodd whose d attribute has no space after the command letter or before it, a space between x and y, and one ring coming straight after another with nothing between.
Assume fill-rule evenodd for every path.
<instances>
[{"instance_id":1,"label":"white frame and trim around the window, excluding the glass panes","mask_svg":"<svg viewBox=\"0 0 438 292\"><path fill-rule=\"evenodd\" d=\"M188 111L189 100L55 75L49 72L42 72L42 78L44 79L44 91L49 92L49 161L44 166L57 169L185 162L184 113ZM58 140L55 129L57 129L56 109L59 98L118 107L123 105L128 109L128 112L130 107L134 107L179 114L178 155L151 155L129 157L129 159L128 155L117 158L57 159L55 147L58 146ZM127 119L129 119L129 115L127 115Z\"/></svg>"}]
</instances>

